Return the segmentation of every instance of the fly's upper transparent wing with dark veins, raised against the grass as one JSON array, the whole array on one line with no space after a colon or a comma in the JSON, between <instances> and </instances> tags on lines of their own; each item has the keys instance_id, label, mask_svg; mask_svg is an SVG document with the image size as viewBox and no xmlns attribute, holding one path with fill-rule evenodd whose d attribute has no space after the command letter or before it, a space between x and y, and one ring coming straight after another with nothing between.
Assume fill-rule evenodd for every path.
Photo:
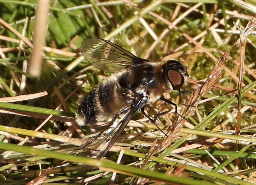
<instances>
[{"instance_id":1,"label":"fly's upper transparent wing with dark veins, raised against the grass","mask_svg":"<svg viewBox=\"0 0 256 185\"><path fill-rule=\"evenodd\" d=\"M101 38L83 40L81 51L90 64L107 73L115 73L124 70L130 65L149 62Z\"/></svg>"}]
</instances>

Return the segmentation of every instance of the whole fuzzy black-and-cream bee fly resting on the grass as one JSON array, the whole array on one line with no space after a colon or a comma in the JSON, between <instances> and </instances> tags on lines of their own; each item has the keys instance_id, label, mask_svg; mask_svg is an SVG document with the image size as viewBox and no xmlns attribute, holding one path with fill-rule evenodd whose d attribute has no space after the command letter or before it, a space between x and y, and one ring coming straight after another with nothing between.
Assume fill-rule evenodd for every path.
<instances>
[{"instance_id":1,"label":"whole fuzzy black-and-cream bee fly resting on the grass","mask_svg":"<svg viewBox=\"0 0 256 185\"><path fill-rule=\"evenodd\" d=\"M152 63L100 38L83 40L81 51L84 58L94 67L107 73L114 73L94 87L75 112L79 126L112 118L108 126L112 126L115 132L97 158L104 156L114 145L138 110L154 122L144 112L147 103L160 99L174 105L177 113L177 105L161 95L171 90L180 92L181 86L187 80L187 67L180 62L169 60ZM123 113L124 116L118 125L113 126L116 118Z\"/></svg>"}]
</instances>

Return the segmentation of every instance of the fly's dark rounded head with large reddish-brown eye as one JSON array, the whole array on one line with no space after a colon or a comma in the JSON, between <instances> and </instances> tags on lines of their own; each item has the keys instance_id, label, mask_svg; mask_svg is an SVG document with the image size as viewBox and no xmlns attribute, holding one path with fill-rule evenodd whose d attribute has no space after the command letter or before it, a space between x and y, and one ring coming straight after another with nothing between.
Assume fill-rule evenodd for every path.
<instances>
[{"instance_id":1,"label":"fly's dark rounded head with large reddish-brown eye","mask_svg":"<svg viewBox=\"0 0 256 185\"><path fill-rule=\"evenodd\" d=\"M175 60L167 61L162 70L163 80L170 90L179 90L189 77L187 67Z\"/></svg>"}]
</instances>

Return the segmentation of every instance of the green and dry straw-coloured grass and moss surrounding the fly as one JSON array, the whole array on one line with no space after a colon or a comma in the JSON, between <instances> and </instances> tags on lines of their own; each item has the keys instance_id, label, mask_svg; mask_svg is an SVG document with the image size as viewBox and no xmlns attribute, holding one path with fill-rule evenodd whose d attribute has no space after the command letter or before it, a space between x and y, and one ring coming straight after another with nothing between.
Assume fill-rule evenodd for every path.
<instances>
[{"instance_id":1,"label":"green and dry straw-coloured grass and moss surrounding the fly","mask_svg":"<svg viewBox=\"0 0 256 185\"><path fill-rule=\"evenodd\" d=\"M0 0L1 185L255 182L255 1L47 3ZM90 37L186 65L190 106L175 91L165 98L187 120L156 101L146 111L168 137L138 112L106 158L93 158L104 127L80 128L74 112L109 74L81 56Z\"/></svg>"}]
</instances>

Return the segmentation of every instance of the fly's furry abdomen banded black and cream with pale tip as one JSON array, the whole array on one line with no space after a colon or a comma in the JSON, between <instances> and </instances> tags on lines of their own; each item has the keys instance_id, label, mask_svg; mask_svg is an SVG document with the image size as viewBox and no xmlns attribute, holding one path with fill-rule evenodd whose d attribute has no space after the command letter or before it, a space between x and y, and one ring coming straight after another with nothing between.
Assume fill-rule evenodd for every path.
<instances>
[{"instance_id":1,"label":"fly's furry abdomen banded black and cream with pale tip","mask_svg":"<svg viewBox=\"0 0 256 185\"><path fill-rule=\"evenodd\" d=\"M75 118L79 126L106 121L119 111L128 107L124 88L119 85L124 72L107 77L81 101Z\"/></svg>"}]
</instances>

